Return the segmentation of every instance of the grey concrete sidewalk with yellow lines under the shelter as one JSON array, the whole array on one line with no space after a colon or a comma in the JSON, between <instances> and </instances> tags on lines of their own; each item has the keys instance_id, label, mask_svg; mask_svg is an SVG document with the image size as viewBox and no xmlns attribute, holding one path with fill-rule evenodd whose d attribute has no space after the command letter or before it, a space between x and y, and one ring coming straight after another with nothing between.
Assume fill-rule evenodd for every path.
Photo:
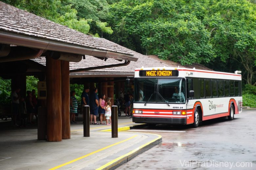
<instances>
[{"instance_id":1,"label":"grey concrete sidewalk with yellow lines under the shelter","mask_svg":"<svg viewBox=\"0 0 256 170\"><path fill-rule=\"evenodd\" d=\"M107 131L111 126L106 125L90 125L90 137L83 137L79 121L71 124L71 139L46 142L37 140L36 126L11 127L11 123L0 125L0 169L4 170L115 169L162 140L159 135L128 131L112 138ZM119 130L136 125L128 117L118 117Z\"/></svg>"}]
</instances>

